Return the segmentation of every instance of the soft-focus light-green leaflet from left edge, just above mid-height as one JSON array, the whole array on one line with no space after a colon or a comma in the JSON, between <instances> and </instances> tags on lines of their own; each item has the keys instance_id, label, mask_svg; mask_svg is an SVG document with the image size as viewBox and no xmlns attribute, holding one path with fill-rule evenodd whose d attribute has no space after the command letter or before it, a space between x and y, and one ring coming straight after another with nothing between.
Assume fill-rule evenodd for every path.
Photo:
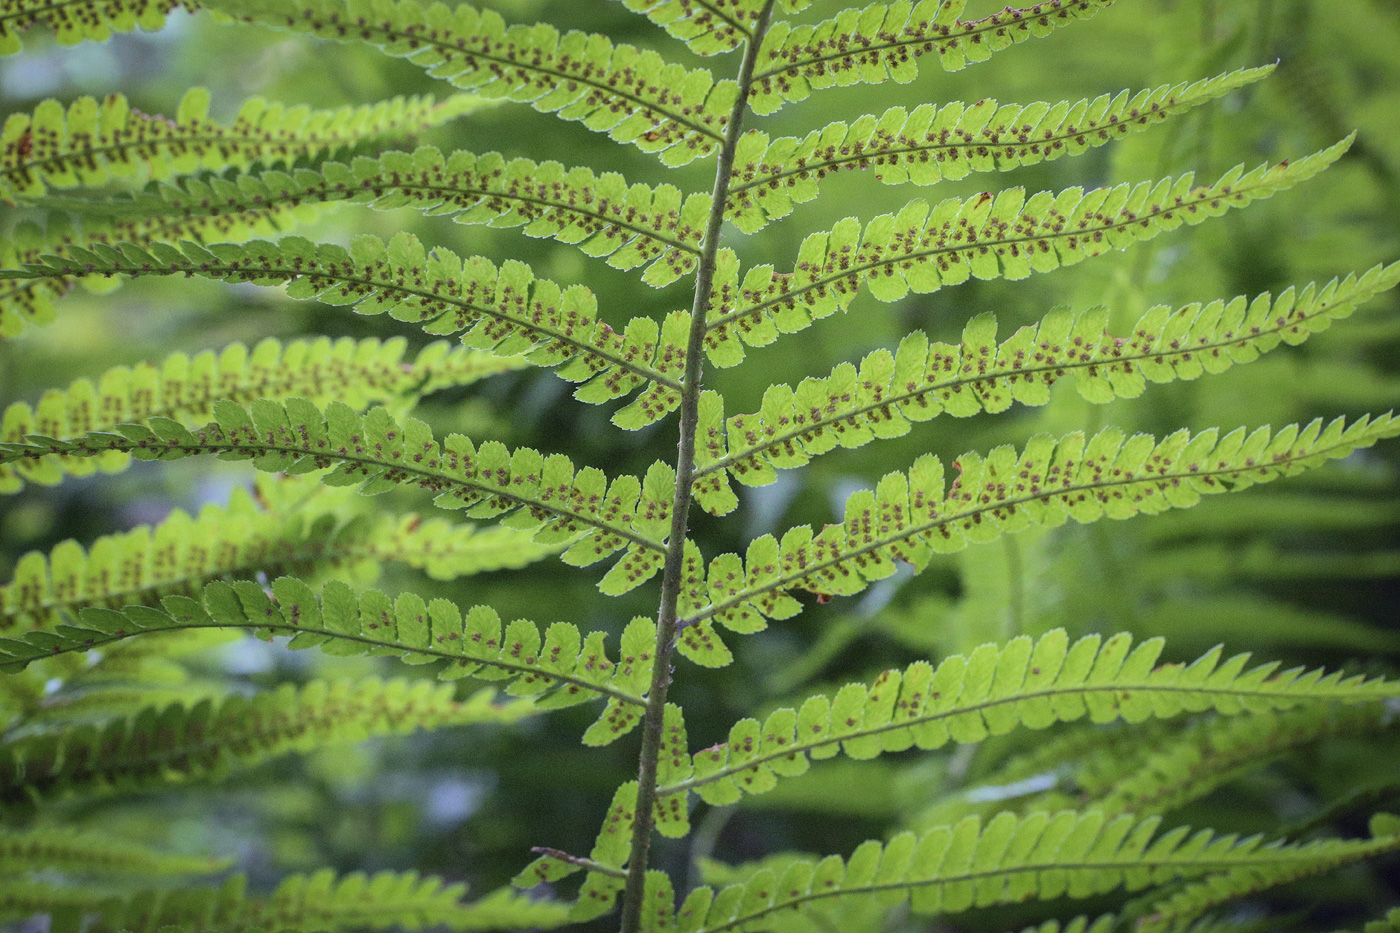
<instances>
[{"instance_id":1,"label":"soft-focus light-green leaflet from left edge, just above mid-height","mask_svg":"<svg viewBox=\"0 0 1400 933\"><path fill-rule=\"evenodd\" d=\"M525 366L519 357L452 347L442 340L419 350L410 363L403 359L406 347L402 338L287 343L267 338L252 350L234 343L217 353L174 353L158 364L118 366L95 380L49 389L32 408L14 402L0 420L0 441L21 441L27 434L63 438L112 431L118 424L148 417L203 422L217 399L251 405L259 398L304 396L316 403L337 399L360 409L371 402L470 385ZM116 472L129 464L129 455L112 452L4 465L0 493L18 492L25 482L50 486L66 475Z\"/></svg>"}]
</instances>

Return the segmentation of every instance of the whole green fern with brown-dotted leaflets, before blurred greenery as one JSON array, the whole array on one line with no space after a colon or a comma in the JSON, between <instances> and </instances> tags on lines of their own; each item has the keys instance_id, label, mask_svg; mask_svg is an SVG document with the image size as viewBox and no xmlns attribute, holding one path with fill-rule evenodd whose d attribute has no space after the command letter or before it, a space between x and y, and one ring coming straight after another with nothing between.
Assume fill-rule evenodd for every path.
<instances>
[{"instance_id":1,"label":"whole green fern with brown-dotted leaflets, before blurred greenery","mask_svg":"<svg viewBox=\"0 0 1400 933\"><path fill-rule=\"evenodd\" d=\"M1400 849L1400 821L1379 810L1355 838L1308 835L1315 827L1295 838L1287 827L1239 836L1169 817L1260 759L1329 737L1383 734L1400 686L1375 672L1252 667L1247 654L1218 647L1163 661L1161 637L1075 637L1021 623L983 643L969 640L986 630L972 618L986 604L972 593L962 615L946 600L892 607L882 625L923 644L925 657L906 656L867 681L802 691L811 678L794 674L788 689L748 710L752 717L722 724L703 721L692 712L700 700L676 702L672 692L686 681L714 684L701 668L762 650L752 647L760 632L799 632L790 621L804 611L819 615L819 605L864 594L878 612L892 586L955 566L944 555L970 555L965 576L983 586L998 560L988 542L1009 542L1004 560L1015 576L1018 542L1044 548L1070 520L1190 509L1400 433L1400 422L1379 412L1156 436L1008 427L1001 440L1018 443L895 464L850 492L825 527L749 534L731 518L728 531L711 532L718 523L700 514L757 513L764 488L839 450L907 450L892 444L910 436L927 451L938 436L916 426L934 419L937 427L1063 405L1060 384L1093 405L1135 398L1148 382L1219 374L1309 340L1393 289L1400 263L1338 269L1341 277L1277 293L1155 305L1135 322L1110 308L1061 307L1022 326L1012 326L1014 312L965 315L956 336L920 326L797 384L762 377L753 405L722 391L725 370L755 370L762 347L792 346L792 335L825 318L853 307L888 314L871 298L917 312L928 305L910 296L1028 279L1169 237L1308 182L1344 158L1354 137L1205 182L1183 174L1088 191L1008 185L914 198L788 244L783 231L797 219L778 221L801 216L848 170L883 185L935 186L1047 164L1189 119L1254 87L1273 66L1078 101L896 105L812 127L816 101L836 88L960 71L1061 28L1089 29L1077 24L1114 4L1043 0L981 17L966 0L623 6L671 36L672 57L704 56L715 67L419 0L17 0L0 14L4 53L46 29L67 45L157 28L181 7L216 18L216 28L244 21L300 43L368 46L456 88L441 101L330 109L259 98L231 120L210 116L200 88L171 119L113 94L43 101L6 120L0 196L15 217L0 242L7 340L53 324L78 287L108 293L158 277L276 287L388 315L384 333L395 336L342 336L344 318L326 312L307 339L132 360L7 408L6 493L116 474L133 461L251 461L265 476L195 516L176 510L87 546L29 552L0 588L0 863L10 871L0 916L48 913L64 929L113 930L598 922L624 933L718 933L928 929L910 915L977 909L972 916L983 920L973 922L1000 929L1035 919L1047 930L1184 930L1205 916L1247 929L1229 904ZM813 106L799 106L809 98ZM553 161L553 153L486 151L497 144L486 133L473 134L484 141L473 150L393 147L448 120L511 119L497 115L501 102L638 150L651 160L651 181ZM760 129L778 111L806 127ZM711 172L708 192L693 189L699 165ZM577 247L617 270L608 275L640 279L629 283L637 297L620 308L601 301L601 270L598 289L556 282L564 276L542 272L556 254L525 241L504 255L539 262L475 255L445 227L349 235L354 214L337 209L351 205ZM361 223L372 221L361 214ZM322 235L295 235L295 226ZM763 261L784 249L784 259ZM675 458L633 474L616 461L581 465L564 450L501 443L484 422L470 437L456 430L466 415L428 401L531 367L575 384L581 405L612 405L612 423L634 437L675 440ZM441 511L430 513L424 492ZM596 586L613 601L589 609L596 625L545 614L510 621L515 609L503 616L479 595L489 583L441 590L421 579L379 580L386 565L434 581L489 581L497 577L484 574L557 560L605 566ZM546 573L538 579L566 574ZM553 604L540 597L540 605ZM643 605L645 614L617 622ZM820 618L840 637L844 622ZM351 677L344 668L245 696L217 677L192 675L203 668L190 658L242 635L328 657L391 657L431 665L440 681L494 686L459 693L405 671ZM816 637L820 646L827 635ZM825 656L813 657L820 668ZM636 779L594 814L589 852L540 839L538 857L517 863L514 890L469 899L459 884L395 871L294 874L263 894L244 876L210 880L227 869L210 853L123 838L105 825L120 821L94 820L71 803L105 806L94 801L371 735L522 727L584 705L592 712L582 742L627 737ZM1042 740L1051 727L1056 735ZM694 748L687 731L720 741ZM998 737L1015 735L1037 747L1008 754L1014 747ZM668 850L654 855L657 836L717 832L711 815L692 827L697 807L717 814L781 799L809 770L839 763L827 759L860 768L955 745L939 759L949 762L939 793L902 808L882 841L846 855L696 859L699 881L664 870ZM979 747L994 754L980 785L960 792L951 775ZM997 912L1008 905L1019 906ZM1078 909L1093 916L1046 920ZM599 919L615 912L616 920Z\"/></svg>"}]
</instances>

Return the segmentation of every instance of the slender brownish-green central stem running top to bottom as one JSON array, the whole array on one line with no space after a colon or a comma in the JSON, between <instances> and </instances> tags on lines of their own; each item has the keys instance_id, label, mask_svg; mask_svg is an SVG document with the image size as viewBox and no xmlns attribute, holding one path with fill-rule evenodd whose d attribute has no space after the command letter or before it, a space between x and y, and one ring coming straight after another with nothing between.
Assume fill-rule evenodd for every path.
<instances>
[{"instance_id":1,"label":"slender brownish-green central stem running top to bottom","mask_svg":"<svg viewBox=\"0 0 1400 933\"><path fill-rule=\"evenodd\" d=\"M685 567L686 534L690 518L690 488L696 472L696 426L700 420L700 373L704 359L706 311L714 290L714 266L720 254L720 230L724 226L724 205L729 199L729 178L734 175L734 153L743 132L743 111L749 104L753 69L759 60L759 46L769 29L774 0L763 4L753 22L753 34L743 49L739 66L739 95L734 101L729 123L725 126L720 163L714 171L714 202L706 226L704 252L696 272L696 298L690 312L690 339L686 345L686 374L680 391L680 444L676 454L676 495L671 502L671 537L666 539L666 562L661 574L661 608L657 612L657 649L647 692L647 714L641 727L641 755L637 766L637 813L631 831L631 857L627 863L627 887L622 899L622 933L641 930L641 902L647 883L648 852L651 850L652 807L657 801L657 761L661 756L662 724L666 713L666 692L671 688L671 658L676 650L676 605L680 598Z\"/></svg>"}]
</instances>

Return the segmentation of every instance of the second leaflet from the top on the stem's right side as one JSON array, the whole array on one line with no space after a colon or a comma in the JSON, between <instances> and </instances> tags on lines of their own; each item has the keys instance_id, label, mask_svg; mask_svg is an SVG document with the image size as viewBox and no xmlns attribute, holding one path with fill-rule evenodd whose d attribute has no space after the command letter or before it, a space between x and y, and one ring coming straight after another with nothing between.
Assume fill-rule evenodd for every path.
<instances>
[{"instance_id":1,"label":"second leaflet from the top on the stem's right side","mask_svg":"<svg viewBox=\"0 0 1400 933\"><path fill-rule=\"evenodd\" d=\"M815 199L819 182L840 171L874 170L886 185L934 185L970 172L1078 156L1253 84L1273 70L1240 69L1194 84L1078 102L1002 105L981 99L972 105L921 104L913 112L896 106L850 125L832 123L804 139L770 141L753 130L739 141L725 210L741 230L756 233L795 205Z\"/></svg>"}]
</instances>

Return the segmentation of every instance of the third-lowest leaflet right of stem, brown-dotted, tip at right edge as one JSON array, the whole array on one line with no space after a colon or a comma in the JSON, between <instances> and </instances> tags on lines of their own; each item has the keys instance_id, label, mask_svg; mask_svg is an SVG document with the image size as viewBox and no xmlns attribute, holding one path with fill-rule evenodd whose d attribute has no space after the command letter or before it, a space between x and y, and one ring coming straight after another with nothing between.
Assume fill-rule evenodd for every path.
<instances>
[{"instance_id":1,"label":"third-lowest leaflet right of stem, brown-dotted, tip at right edge","mask_svg":"<svg viewBox=\"0 0 1400 933\"><path fill-rule=\"evenodd\" d=\"M875 490L847 499L843 524L820 532L798 527L781 544L764 535L749 545L746 560L721 555L707 580L690 574L694 595L686 601L682 625L717 619L752 632L763 616L797 614L797 588L851 595L895 573L896 560L921 569L934 552L1030 525L1189 507L1203 495L1288 476L1396 434L1400 420L1382 415L1350 426L1343 419L1326 427L1315 420L1277 434L1261 427L1224 437L1214 429L1194 437L1182 430L1162 441L1147 434L1128 438L1116 429L1089 440L1078 433L1061 440L1040 436L1019 455L1000 447L986 459L960 457L959 475L946 490L942 464L925 455L907 476L889 474Z\"/></svg>"}]
</instances>

